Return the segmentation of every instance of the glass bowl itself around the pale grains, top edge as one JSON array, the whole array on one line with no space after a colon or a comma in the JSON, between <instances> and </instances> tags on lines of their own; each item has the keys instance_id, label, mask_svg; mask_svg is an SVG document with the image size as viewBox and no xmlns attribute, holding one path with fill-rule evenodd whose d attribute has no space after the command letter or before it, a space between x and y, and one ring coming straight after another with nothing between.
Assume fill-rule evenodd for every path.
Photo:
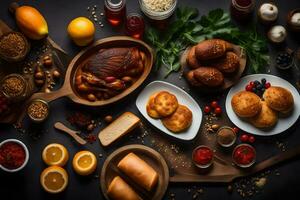
<instances>
[{"instance_id":1,"label":"glass bowl itself around the pale grains, top edge","mask_svg":"<svg viewBox=\"0 0 300 200\"><path fill-rule=\"evenodd\" d=\"M177 6L177 0L173 1L172 6L169 8L169 10L157 12L150 10L145 4L143 0L139 0L140 8L142 12L149 17L152 20L165 20L168 19L175 11Z\"/></svg>"}]
</instances>

